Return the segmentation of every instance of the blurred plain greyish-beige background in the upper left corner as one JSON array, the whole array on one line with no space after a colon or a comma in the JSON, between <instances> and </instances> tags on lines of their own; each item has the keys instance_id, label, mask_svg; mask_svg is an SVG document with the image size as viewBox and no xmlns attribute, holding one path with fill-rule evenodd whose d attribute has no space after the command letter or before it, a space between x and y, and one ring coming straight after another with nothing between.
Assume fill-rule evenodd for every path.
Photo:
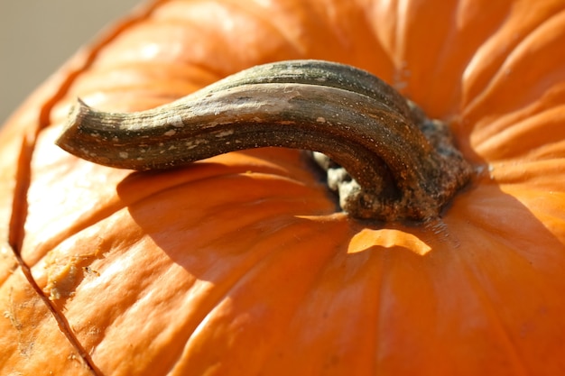
<instances>
[{"instance_id":1,"label":"blurred plain greyish-beige background in the upper left corner","mask_svg":"<svg viewBox=\"0 0 565 376\"><path fill-rule=\"evenodd\" d=\"M105 25L142 0L0 0L0 126Z\"/></svg>"}]
</instances>

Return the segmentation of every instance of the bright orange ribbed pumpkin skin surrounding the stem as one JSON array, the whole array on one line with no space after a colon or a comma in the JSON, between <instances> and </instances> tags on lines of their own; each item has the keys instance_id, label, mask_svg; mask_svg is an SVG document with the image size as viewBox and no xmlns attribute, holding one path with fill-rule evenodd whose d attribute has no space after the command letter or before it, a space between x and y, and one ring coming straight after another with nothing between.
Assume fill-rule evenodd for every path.
<instances>
[{"instance_id":1,"label":"bright orange ribbed pumpkin skin surrounding the stem","mask_svg":"<svg viewBox=\"0 0 565 376\"><path fill-rule=\"evenodd\" d=\"M0 370L560 374L564 43L563 1L140 7L1 134ZM139 173L54 145L77 96L143 110L306 58L367 69L450 122L477 175L440 224L337 213L297 151Z\"/></svg>"}]
</instances>

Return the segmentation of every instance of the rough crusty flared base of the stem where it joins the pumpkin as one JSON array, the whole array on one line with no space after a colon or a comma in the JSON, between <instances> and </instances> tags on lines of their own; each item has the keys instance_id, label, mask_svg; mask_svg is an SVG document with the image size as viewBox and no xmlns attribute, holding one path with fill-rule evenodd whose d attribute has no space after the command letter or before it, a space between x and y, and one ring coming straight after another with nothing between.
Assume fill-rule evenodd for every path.
<instances>
[{"instance_id":1,"label":"rough crusty flared base of the stem where it joins the pumpkin","mask_svg":"<svg viewBox=\"0 0 565 376\"><path fill-rule=\"evenodd\" d=\"M408 102L412 121L430 142L433 153L430 163L436 168L426 170L419 187L404 191L388 201L375 190L383 192L386 187L364 188L347 170L319 151L311 151L312 160L327 175L328 187L338 193L339 206L350 216L360 219L379 219L386 222L399 220L428 221L440 216L440 211L449 200L463 188L471 178L473 169L458 151L449 126L439 120L428 119L420 107ZM407 167L409 168L409 167ZM430 174L431 171L436 173ZM419 189L422 188L422 189ZM375 216L375 213L378 215Z\"/></svg>"}]
</instances>

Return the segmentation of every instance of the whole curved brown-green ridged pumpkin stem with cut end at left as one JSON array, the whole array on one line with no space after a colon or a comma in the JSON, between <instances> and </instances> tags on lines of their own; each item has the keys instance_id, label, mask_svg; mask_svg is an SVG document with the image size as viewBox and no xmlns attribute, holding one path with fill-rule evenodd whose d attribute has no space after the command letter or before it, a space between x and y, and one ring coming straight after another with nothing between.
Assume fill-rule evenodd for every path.
<instances>
[{"instance_id":1,"label":"whole curved brown-green ridged pumpkin stem with cut end at left","mask_svg":"<svg viewBox=\"0 0 565 376\"><path fill-rule=\"evenodd\" d=\"M439 216L471 168L449 128L366 71L320 60L246 69L137 113L74 107L57 144L85 160L153 170L266 146L315 153L351 216Z\"/></svg>"}]
</instances>

